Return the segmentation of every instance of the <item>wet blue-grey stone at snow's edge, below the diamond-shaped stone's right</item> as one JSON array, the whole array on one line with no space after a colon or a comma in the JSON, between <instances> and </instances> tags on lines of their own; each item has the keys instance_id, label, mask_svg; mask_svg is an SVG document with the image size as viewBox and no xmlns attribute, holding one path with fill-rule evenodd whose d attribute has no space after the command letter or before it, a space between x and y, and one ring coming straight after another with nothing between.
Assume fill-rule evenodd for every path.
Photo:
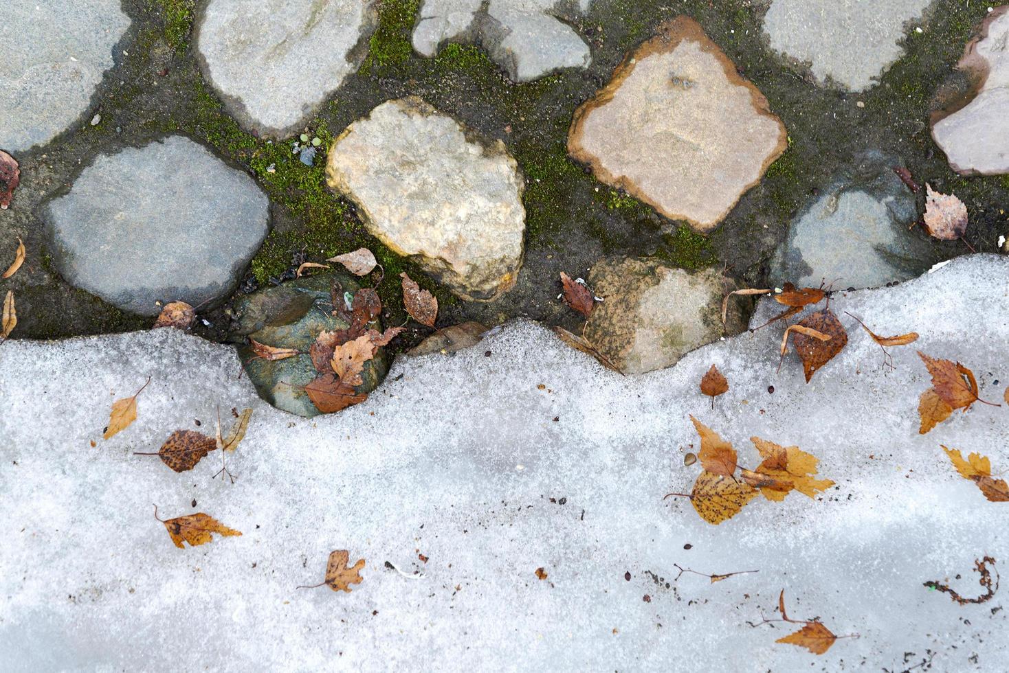
<instances>
[{"instance_id":1,"label":"wet blue-grey stone at snow's edge, below the diamond-shaped stone's right","mask_svg":"<svg viewBox=\"0 0 1009 673\"><path fill-rule=\"evenodd\" d=\"M894 172L899 157L862 155L792 221L771 262L772 282L876 287L913 278L937 258L917 227L915 195Z\"/></svg>"}]
</instances>

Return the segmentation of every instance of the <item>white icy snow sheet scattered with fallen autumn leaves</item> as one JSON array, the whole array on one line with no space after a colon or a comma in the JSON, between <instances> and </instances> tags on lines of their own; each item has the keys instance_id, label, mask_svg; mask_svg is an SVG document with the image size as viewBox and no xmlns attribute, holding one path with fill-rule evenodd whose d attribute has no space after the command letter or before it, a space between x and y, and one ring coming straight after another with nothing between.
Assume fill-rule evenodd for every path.
<instances>
[{"instance_id":1,"label":"white icy snow sheet scattered with fallen autumn leaves","mask_svg":"<svg viewBox=\"0 0 1009 673\"><path fill-rule=\"evenodd\" d=\"M952 585L977 595L974 559L1009 559L1009 506L939 448L1009 468L1009 410L976 404L919 435L930 384L914 352L963 362L1000 402L1007 280L1009 260L974 255L834 296L850 341L809 384L794 354L775 373L779 325L625 378L520 321L475 349L401 358L367 402L310 420L260 402L232 349L172 329L8 342L0 669L878 671L929 651L935 670L998 669L1005 589L961 607L922 582L959 574ZM754 320L776 307L765 300ZM887 373L845 310L921 338L891 350ZM712 363L731 385L713 410L698 390ZM147 376L136 422L103 441L112 401ZM212 481L216 453L182 475L132 455L175 429L213 432L217 405L255 409L228 459L234 485ZM745 465L758 435L813 453L836 487L757 499L710 526L687 500L663 501L698 472L683 465L697 445L688 414ZM152 504L243 535L177 549ZM363 582L296 588L322 580L333 549L366 559ZM674 563L760 572L674 581ZM817 657L775 644L798 627L748 626L775 617L782 588L790 617L860 638Z\"/></svg>"}]
</instances>

